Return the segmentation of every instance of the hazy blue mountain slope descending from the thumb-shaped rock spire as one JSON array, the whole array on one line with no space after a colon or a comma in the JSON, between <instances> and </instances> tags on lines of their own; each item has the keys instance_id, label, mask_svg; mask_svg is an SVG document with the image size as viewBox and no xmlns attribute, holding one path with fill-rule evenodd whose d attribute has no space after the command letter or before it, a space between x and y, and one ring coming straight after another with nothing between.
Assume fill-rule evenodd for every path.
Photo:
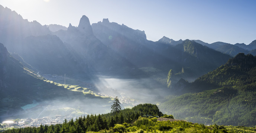
<instances>
[{"instance_id":1,"label":"hazy blue mountain slope descending from the thumb-shaped rock spire","mask_svg":"<svg viewBox=\"0 0 256 133\"><path fill-rule=\"evenodd\" d=\"M92 72L115 71L117 68L132 66L94 36L86 16L81 17L78 27L69 24L67 31L59 30L54 34L74 49Z\"/></svg>"}]
</instances>

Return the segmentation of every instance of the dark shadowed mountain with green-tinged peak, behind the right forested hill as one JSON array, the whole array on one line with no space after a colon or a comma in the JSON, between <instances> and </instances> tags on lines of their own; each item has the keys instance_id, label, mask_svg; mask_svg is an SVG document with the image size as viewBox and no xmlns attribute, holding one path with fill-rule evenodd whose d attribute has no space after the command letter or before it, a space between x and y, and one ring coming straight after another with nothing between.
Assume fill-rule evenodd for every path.
<instances>
[{"instance_id":1,"label":"dark shadowed mountain with green-tinged peak, behind the right forested hill","mask_svg":"<svg viewBox=\"0 0 256 133\"><path fill-rule=\"evenodd\" d=\"M183 72L187 72L187 76L190 78L195 75L199 77L224 64L230 58L229 55L190 40L183 41L175 48L182 51L176 56L180 57L179 61L181 61Z\"/></svg>"}]
</instances>

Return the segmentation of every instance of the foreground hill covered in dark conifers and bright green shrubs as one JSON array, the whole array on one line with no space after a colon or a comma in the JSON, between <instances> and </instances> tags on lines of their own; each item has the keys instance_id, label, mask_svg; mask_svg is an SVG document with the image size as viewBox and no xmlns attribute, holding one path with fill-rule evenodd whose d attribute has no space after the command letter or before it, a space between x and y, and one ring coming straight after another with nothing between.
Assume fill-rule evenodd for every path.
<instances>
[{"instance_id":1,"label":"foreground hill covered in dark conifers and bright green shrubs","mask_svg":"<svg viewBox=\"0 0 256 133\"><path fill-rule=\"evenodd\" d=\"M65 119L62 124L8 129L3 133L253 133L256 131L255 127L204 126L171 119L158 121L159 116L173 119L172 115L163 115L156 105L140 104L116 113L91 114L70 121Z\"/></svg>"}]
</instances>

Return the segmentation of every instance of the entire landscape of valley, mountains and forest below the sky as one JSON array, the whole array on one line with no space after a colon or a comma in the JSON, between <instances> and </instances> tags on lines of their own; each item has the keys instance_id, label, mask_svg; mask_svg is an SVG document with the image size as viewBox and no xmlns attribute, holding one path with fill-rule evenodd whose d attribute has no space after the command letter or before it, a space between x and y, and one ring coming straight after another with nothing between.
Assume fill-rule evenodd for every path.
<instances>
[{"instance_id":1,"label":"entire landscape of valley, mountains and forest below the sky","mask_svg":"<svg viewBox=\"0 0 256 133\"><path fill-rule=\"evenodd\" d=\"M0 5L0 129L20 119L13 127L38 133L255 131L256 40L151 41L108 18L78 20L42 25Z\"/></svg>"}]
</instances>

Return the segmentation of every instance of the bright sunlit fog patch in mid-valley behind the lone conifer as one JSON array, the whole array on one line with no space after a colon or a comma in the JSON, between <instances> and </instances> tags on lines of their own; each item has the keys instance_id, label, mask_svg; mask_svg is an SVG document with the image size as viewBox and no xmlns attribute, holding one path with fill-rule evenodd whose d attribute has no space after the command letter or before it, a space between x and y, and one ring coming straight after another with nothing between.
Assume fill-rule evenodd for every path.
<instances>
[{"instance_id":1,"label":"bright sunlit fog patch in mid-valley behind the lone conifer","mask_svg":"<svg viewBox=\"0 0 256 133\"><path fill-rule=\"evenodd\" d=\"M122 79L98 75L94 81L98 92L118 96L124 104L156 103L166 95L166 88L151 78Z\"/></svg>"}]
</instances>

